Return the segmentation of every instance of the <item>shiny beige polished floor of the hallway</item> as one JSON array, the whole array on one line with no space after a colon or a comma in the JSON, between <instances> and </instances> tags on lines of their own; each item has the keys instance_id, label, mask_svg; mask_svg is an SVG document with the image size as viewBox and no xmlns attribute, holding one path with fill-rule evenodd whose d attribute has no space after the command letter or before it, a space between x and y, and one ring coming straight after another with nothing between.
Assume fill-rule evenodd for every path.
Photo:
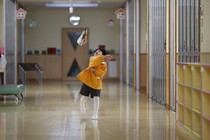
<instances>
[{"instance_id":1,"label":"shiny beige polished floor of the hallway","mask_svg":"<svg viewBox=\"0 0 210 140\"><path fill-rule=\"evenodd\" d=\"M175 112L119 81L104 81L99 119L93 99L80 112L80 82L29 82L24 100L0 97L0 140L191 140Z\"/></svg>"}]
</instances>

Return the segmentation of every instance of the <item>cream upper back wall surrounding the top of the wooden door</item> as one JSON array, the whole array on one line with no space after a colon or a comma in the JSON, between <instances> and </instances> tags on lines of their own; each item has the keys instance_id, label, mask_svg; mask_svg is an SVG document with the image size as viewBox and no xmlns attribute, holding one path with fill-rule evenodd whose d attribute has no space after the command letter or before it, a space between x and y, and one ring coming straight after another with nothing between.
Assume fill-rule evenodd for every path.
<instances>
[{"instance_id":1,"label":"cream upper back wall surrounding the top of the wooden door","mask_svg":"<svg viewBox=\"0 0 210 140\"><path fill-rule=\"evenodd\" d=\"M48 47L60 49L61 28L73 27L69 23L68 8L26 9L26 11L26 50L46 50ZM115 9L74 9L74 13L81 17L81 23L77 27L89 28L90 49L103 44L108 50L119 51L119 21L114 12ZM106 21L110 18L115 20L114 27L107 26ZM30 20L36 21L36 27L29 27Z\"/></svg>"}]
</instances>

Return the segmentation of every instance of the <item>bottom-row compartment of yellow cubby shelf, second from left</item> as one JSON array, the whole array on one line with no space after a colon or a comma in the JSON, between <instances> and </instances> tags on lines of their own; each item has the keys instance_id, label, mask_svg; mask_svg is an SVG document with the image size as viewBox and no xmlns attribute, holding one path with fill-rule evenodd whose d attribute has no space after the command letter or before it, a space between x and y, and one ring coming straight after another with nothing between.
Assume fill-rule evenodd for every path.
<instances>
[{"instance_id":1,"label":"bottom-row compartment of yellow cubby shelf, second from left","mask_svg":"<svg viewBox=\"0 0 210 140\"><path fill-rule=\"evenodd\" d=\"M188 108L184 108L184 125L192 129L192 111Z\"/></svg>"}]
</instances>

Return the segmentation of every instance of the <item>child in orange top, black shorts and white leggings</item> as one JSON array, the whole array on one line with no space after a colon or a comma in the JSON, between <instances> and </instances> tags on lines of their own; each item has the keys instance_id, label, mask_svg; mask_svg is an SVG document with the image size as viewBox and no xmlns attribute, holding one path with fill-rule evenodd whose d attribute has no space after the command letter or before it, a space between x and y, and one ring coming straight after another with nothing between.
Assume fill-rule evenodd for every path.
<instances>
[{"instance_id":1,"label":"child in orange top, black shorts and white leggings","mask_svg":"<svg viewBox=\"0 0 210 140\"><path fill-rule=\"evenodd\" d=\"M90 96L94 101L94 112L92 119L98 119L99 110L99 97L102 89L102 80L107 72L107 66L105 61L109 61L112 55L107 55L104 49L96 49L94 56L90 57L89 66L81 71L77 77L82 82L80 89L80 110L86 112L85 102Z\"/></svg>"}]
</instances>

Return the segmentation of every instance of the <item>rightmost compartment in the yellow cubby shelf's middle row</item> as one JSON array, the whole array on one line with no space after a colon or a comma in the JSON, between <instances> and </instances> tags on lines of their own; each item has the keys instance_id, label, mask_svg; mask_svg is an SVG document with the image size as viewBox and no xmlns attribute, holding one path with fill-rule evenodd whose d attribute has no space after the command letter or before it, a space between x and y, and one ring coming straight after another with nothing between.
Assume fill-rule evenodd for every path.
<instances>
[{"instance_id":1,"label":"rightmost compartment in the yellow cubby shelf's middle row","mask_svg":"<svg viewBox=\"0 0 210 140\"><path fill-rule=\"evenodd\" d=\"M210 118L210 94L202 92L202 115Z\"/></svg>"}]
</instances>

